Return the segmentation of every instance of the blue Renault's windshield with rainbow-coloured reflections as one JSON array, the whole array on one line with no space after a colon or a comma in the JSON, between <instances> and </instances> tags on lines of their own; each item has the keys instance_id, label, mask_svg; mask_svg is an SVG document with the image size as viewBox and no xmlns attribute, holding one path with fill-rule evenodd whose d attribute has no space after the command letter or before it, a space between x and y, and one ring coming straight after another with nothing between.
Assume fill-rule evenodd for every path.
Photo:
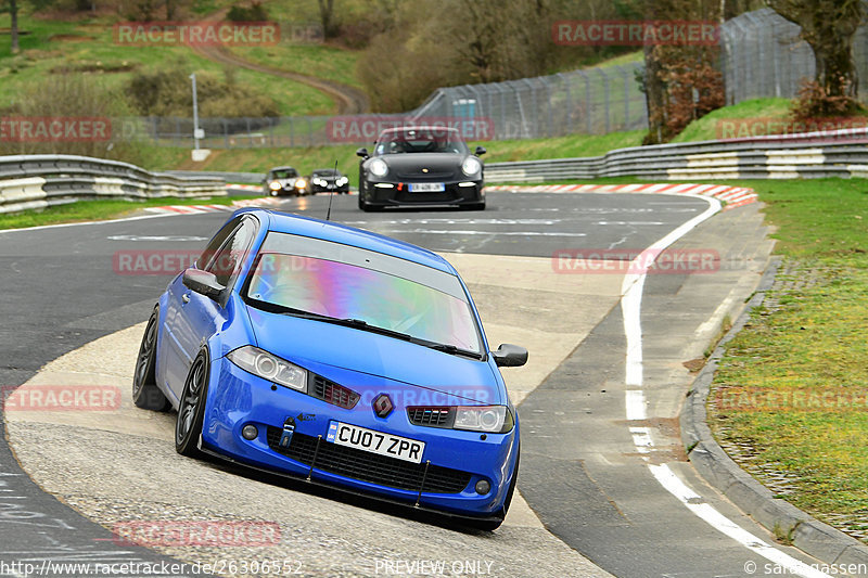
<instances>
[{"instance_id":1,"label":"blue Renault's windshield with rainbow-coloured reflections","mask_svg":"<svg viewBox=\"0 0 868 578\"><path fill-rule=\"evenodd\" d=\"M480 334L455 275L349 245L271 232L245 294L254 307L323 316L472 354Z\"/></svg>"}]
</instances>

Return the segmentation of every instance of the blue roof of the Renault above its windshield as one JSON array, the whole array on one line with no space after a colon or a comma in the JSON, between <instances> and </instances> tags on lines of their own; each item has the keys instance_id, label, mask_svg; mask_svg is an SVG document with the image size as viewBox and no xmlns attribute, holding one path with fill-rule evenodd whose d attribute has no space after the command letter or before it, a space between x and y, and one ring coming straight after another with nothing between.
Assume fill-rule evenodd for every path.
<instances>
[{"instance_id":1,"label":"blue roof of the Renault above its windshield","mask_svg":"<svg viewBox=\"0 0 868 578\"><path fill-rule=\"evenodd\" d=\"M309 236L360 247L457 274L452 266L436 253L397 239L356 229L355 227L260 208L243 208L234 213L234 215L240 214L258 216L269 231Z\"/></svg>"}]
</instances>

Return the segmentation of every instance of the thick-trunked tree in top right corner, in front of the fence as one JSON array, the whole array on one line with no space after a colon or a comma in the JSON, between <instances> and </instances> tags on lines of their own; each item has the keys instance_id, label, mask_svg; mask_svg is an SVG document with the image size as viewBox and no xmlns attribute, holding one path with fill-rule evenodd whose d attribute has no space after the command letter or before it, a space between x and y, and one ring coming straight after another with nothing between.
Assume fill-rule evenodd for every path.
<instances>
[{"instance_id":1,"label":"thick-trunked tree in top right corner, in front of the fence","mask_svg":"<svg viewBox=\"0 0 868 578\"><path fill-rule=\"evenodd\" d=\"M788 21L802 27L814 50L815 79L828 97L855 99L858 90L853 37L865 17L861 0L766 0Z\"/></svg>"}]
</instances>

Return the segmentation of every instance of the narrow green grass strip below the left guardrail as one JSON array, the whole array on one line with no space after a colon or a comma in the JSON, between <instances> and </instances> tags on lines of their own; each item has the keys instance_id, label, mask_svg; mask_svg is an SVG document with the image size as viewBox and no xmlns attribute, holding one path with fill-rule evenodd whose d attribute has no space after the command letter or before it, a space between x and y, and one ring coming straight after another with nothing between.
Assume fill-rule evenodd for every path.
<instances>
[{"instance_id":1,"label":"narrow green grass strip below the left guardrail","mask_svg":"<svg viewBox=\"0 0 868 578\"><path fill-rule=\"evenodd\" d=\"M240 198L255 198L259 195L214 196L206 198L148 198L145 201L126 201L123 198L78 201L68 205L50 207L44 210L26 210L14 215L0 215L0 230L60 224L67 222L116 219L141 210L145 207L165 205L231 205Z\"/></svg>"}]
</instances>

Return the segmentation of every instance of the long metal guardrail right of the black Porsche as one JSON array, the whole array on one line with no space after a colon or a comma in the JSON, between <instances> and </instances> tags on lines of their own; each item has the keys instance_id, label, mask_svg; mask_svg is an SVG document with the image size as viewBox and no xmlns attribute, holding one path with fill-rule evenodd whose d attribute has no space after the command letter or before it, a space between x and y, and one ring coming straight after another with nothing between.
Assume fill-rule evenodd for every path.
<instances>
[{"instance_id":1,"label":"long metal guardrail right of the black Porsche","mask_svg":"<svg viewBox=\"0 0 868 578\"><path fill-rule=\"evenodd\" d=\"M603 156L485 166L486 182L868 177L868 129L618 149Z\"/></svg>"}]
</instances>

